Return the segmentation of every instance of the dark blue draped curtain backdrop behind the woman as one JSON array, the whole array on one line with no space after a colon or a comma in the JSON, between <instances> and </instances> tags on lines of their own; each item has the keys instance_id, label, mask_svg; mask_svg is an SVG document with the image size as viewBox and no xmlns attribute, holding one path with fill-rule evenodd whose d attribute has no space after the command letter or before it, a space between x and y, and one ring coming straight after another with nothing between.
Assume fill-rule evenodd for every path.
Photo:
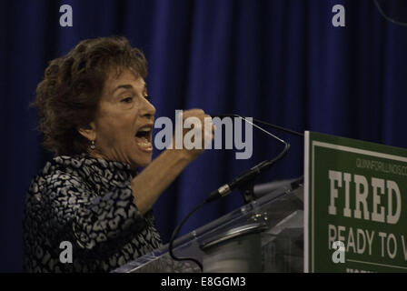
<instances>
[{"instance_id":1,"label":"dark blue draped curtain backdrop behind the woman","mask_svg":"<svg viewBox=\"0 0 407 291\"><path fill-rule=\"evenodd\" d=\"M407 14L405 1L380 2L399 20ZM65 4L73 8L73 27L59 25ZM345 27L332 25L337 4L345 8ZM3 272L21 271L25 191L52 157L40 146L29 103L47 62L84 38L125 35L144 50L156 116L174 120L175 109L198 107L407 147L407 27L386 21L372 0L15 0L2 1L0 14ZM279 135L291 151L259 183L303 174L303 140ZM255 132L251 159L236 160L233 150L205 152L154 206L164 242L213 189L281 149ZM233 193L204 206L182 233L241 205Z\"/></svg>"}]
</instances>

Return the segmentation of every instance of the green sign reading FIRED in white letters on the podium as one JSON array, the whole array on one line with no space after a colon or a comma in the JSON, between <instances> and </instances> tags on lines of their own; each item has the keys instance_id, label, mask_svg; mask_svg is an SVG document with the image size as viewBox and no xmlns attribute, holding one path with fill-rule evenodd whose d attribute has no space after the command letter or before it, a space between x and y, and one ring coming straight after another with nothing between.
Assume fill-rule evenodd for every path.
<instances>
[{"instance_id":1,"label":"green sign reading FIRED in white letters on the podium","mask_svg":"<svg viewBox=\"0 0 407 291\"><path fill-rule=\"evenodd\" d=\"M407 150L305 132L305 272L407 272Z\"/></svg>"}]
</instances>

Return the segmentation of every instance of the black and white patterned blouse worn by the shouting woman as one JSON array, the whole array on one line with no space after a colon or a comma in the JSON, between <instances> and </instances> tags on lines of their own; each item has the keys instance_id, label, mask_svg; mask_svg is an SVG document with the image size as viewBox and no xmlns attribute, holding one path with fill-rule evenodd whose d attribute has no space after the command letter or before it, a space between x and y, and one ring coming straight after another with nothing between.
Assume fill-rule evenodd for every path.
<instances>
[{"instance_id":1,"label":"black and white patterned blouse worn by the shouting woman","mask_svg":"<svg viewBox=\"0 0 407 291\"><path fill-rule=\"evenodd\" d=\"M134 175L127 164L85 155L47 163L26 196L25 271L108 272L161 246L153 213L134 205ZM60 261L64 241L72 263Z\"/></svg>"}]
</instances>

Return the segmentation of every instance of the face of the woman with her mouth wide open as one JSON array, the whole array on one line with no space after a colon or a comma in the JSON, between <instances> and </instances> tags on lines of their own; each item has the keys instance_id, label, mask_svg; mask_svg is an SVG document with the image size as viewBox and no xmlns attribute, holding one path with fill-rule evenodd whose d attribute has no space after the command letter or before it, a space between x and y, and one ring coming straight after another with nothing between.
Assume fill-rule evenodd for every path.
<instances>
[{"instance_id":1,"label":"face of the woman with her mouth wide open","mask_svg":"<svg viewBox=\"0 0 407 291\"><path fill-rule=\"evenodd\" d=\"M142 77L130 70L123 70L118 77L110 74L93 123L93 156L134 167L150 164L155 107L146 96Z\"/></svg>"}]
</instances>

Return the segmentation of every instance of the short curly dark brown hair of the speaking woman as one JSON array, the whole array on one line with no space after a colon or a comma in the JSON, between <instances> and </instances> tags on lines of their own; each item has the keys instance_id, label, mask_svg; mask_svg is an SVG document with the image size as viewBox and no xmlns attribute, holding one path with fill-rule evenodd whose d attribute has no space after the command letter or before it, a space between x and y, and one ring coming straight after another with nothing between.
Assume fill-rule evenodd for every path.
<instances>
[{"instance_id":1,"label":"short curly dark brown hair of the speaking woman","mask_svg":"<svg viewBox=\"0 0 407 291\"><path fill-rule=\"evenodd\" d=\"M124 69L144 79L147 76L144 54L124 37L86 39L52 60L32 104L37 108L44 146L56 155L87 152L90 141L78 128L88 128L94 120L109 74L120 75Z\"/></svg>"}]
</instances>

